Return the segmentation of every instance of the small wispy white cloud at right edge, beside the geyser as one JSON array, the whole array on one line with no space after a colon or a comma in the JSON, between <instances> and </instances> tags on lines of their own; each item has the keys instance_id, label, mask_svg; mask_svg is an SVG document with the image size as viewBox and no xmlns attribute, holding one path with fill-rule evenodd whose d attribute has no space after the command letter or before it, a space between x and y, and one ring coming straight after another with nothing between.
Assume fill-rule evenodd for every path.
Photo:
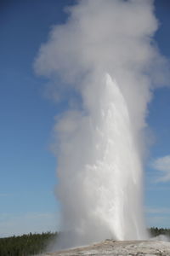
<instances>
[{"instance_id":1,"label":"small wispy white cloud at right edge, beside the geyser","mask_svg":"<svg viewBox=\"0 0 170 256\"><path fill-rule=\"evenodd\" d=\"M160 171L158 177L156 177L156 183L170 181L170 155L153 160L151 167Z\"/></svg>"}]
</instances>

